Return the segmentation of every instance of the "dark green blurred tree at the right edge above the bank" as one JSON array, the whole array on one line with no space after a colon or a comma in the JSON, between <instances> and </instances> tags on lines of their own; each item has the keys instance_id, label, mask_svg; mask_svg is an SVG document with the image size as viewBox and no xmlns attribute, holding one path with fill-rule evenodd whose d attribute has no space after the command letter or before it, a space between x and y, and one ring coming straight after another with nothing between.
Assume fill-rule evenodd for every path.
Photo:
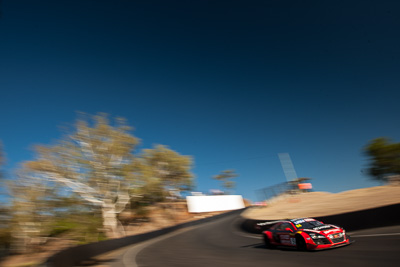
<instances>
[{"instance_id":1,"label":"dark green blurred tree at the right edge above the bank","mask_svg":"<svg viewBox=\"0 0 400 267\"><path fill-rule=\"evenodd\" d=\"M392 143L388 138L376 138L365 148L364 153L370 159L368 173L376 180L388 182L399 179L400 143Z\"/></svg>"}]
</instances>

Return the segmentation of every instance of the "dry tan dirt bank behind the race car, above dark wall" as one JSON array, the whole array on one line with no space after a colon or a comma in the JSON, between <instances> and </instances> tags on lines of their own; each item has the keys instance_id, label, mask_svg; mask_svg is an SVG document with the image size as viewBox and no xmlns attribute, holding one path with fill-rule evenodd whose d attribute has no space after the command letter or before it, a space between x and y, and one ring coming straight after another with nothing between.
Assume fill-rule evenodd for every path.
<instances>
[{"instance_id":1,"label":"dry tan dirt bank behind the race car, above dark wall","mask_svg":"<svg viewBox=\"0 0 400 267\"><path fill-rule=\"evenodd\" d=\"M386 185L340 193L309 192L284 195L267 201L266 207L246 210L249 219L281 220L319 217L400 203L400 186Z\"/></svg>"}]
</instances>

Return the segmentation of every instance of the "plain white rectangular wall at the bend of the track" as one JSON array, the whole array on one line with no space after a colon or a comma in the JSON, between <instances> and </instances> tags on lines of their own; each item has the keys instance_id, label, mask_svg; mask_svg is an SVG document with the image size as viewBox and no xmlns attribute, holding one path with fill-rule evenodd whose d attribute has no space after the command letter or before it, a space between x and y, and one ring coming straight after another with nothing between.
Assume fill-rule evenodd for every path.
<instances>
[{"instance_id":1,"label":"plain white rectangular wall at the bend of the track","mask_svg":"<svg viewBox=\"0 0 400 267\"><path fill-rule=\"evenodd\" d=\"M189 212L212 212L243 209L243 197L240 195L187 196Z\"/></svg>"}]
</instances>

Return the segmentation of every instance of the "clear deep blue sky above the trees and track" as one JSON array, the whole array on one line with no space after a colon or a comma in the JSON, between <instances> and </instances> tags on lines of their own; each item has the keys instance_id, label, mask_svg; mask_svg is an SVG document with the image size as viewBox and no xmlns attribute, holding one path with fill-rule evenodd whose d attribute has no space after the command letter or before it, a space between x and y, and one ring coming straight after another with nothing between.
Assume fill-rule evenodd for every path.
<instances>
[{"instance_id":1,"label":"clear deep blue sky above the trees and track","mask_svg":"<svg viewBox=\"0 0 400 267\"><path fill-rule=\"evenodd\" d=\"M125 117L141 148L194 158L197 190L378 185L373 138L400 139L397 1L1 2L0 140L9 175L76 111Z\"/></svg>"}]
</instances>

